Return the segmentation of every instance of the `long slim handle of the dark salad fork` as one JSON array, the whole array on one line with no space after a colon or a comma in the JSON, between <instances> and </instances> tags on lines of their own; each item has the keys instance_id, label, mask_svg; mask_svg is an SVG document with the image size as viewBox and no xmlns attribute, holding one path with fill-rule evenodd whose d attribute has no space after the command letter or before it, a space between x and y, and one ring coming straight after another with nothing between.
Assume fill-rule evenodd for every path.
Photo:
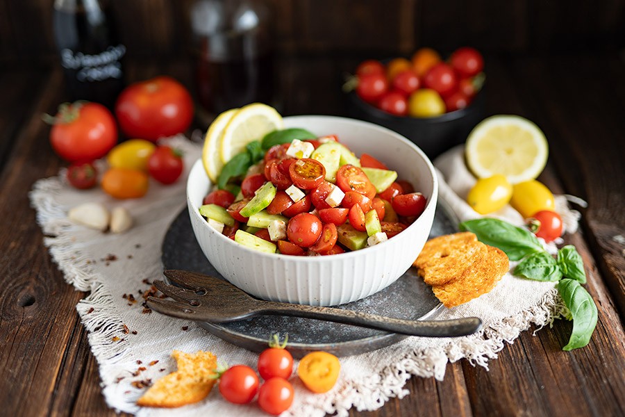
<instances>
[{"instance_id":1,"label":"long slim handle of the dark salad fork","mask_svg":"<svg viewBox=\"0 0 625 417\"><path fill-rule=\"evenodd\" d=\"M410 336L457 337L478 331L482 321L477 317L453 320L403 320L377 316L361 311L334 309L332 307L305 306L281 302L266 302L263 314L316 318L332 322L369 327L385 332L409 334Z\"/></svg>"}]
</instances>

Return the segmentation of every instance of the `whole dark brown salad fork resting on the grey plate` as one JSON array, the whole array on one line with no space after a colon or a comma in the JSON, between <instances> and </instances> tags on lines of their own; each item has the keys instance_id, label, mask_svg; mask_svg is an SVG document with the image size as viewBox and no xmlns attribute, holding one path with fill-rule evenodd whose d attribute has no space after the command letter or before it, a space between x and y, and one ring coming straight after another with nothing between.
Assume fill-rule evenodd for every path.
<instances>
[{"instance_id":1,"label":"whole dark brown salad fork resting on the grey plate","mask_svg":"<svg viewBox=\"0 0 625 417\"><path fill-rule=\"evenodd\" d=\"M263 301L223 279L183 270L165 270L163 274L176 285L154 281L154 286L176 301L148 297L148 306L167 316L188 320L220 323L263 315L296 316L429 337L467 336L477 332L482 325L476 317L440 321L403 320L331 307Z\"/></svg>"}]
</instances>

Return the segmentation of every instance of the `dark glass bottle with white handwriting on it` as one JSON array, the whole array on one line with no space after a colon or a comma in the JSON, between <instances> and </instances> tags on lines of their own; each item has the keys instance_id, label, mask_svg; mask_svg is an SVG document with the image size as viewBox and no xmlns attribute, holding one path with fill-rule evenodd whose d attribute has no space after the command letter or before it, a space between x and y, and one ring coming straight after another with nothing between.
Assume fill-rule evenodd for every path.
<instances>
[{"instance_id":1,"label":"dark glass bottle with white handwriting on it","mask_svg":"<svg viewBox=\"0 0 625 417\"><path fill-rule=\"evenodd\" d=\"M98 0L56 0L53 31L72 99L110 108L124 88L122 57L110 6Z\"/></svg>"}]
</instances>

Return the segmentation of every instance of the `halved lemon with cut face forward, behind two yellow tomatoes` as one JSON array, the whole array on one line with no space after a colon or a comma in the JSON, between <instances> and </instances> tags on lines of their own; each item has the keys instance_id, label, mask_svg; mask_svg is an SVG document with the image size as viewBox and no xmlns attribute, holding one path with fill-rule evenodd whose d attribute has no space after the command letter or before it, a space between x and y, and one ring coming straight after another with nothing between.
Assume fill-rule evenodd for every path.
<instances>
[{"instance_id":1,"label":"halved lemon with cut face forward, behind two yellow tomatoes","mask_svg":"<svg viewBox=\"0 0 625 417\"><path fill-rule=\"evenodd\" d=\"M483 120L469 133L465 155L476 177L502 174L515 184L540 175L547 164L549 145L544 133L529 120L497 115Z\"/></svg>"}]
</instances>

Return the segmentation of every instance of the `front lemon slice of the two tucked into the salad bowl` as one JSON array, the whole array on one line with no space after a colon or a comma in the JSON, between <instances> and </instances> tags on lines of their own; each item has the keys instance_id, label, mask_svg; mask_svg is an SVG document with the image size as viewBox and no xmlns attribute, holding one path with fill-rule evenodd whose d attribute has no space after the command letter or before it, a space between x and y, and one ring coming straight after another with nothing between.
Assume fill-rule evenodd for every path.
<instances>
[{"instance_id":1,"label":"front lemon slice of the two tucked into the salad bowl","mask_svg":"<svg viewBox=\"0 0 625 417\"><path fill-rule=\"evenodd\" d=\"M284 122L280 113L267 104L252 103L240 108L226 124L222 136L222 162L230 159L245 149L245 145L262 139L267 133L283 129Z\"/></svg>"}]
</instances>

